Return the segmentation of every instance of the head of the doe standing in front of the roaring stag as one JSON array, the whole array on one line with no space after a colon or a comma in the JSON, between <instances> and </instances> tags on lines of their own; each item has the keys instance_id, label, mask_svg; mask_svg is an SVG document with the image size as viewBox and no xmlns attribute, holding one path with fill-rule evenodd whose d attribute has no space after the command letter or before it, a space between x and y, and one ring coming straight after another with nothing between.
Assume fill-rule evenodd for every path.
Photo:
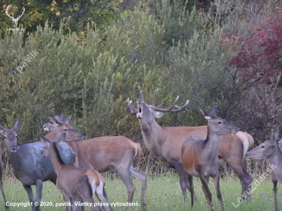
<instances>
[{"instance_id":1,"label":"head of the doe standing in front of the roaring stag","mask_svg":"<svg viewBox=\"0 0 282 211\"><path fill-rule=\"evenodd\" d=\"M230 133L234 134L239 131L239 128L237 126L218 117L217 110L214 106L212 107L210 114L202 109L200 109L200 112L202 112L205 118L208 120L208 130L212 130L217 135L227 135Z\"/></svg>"}]
</instances>

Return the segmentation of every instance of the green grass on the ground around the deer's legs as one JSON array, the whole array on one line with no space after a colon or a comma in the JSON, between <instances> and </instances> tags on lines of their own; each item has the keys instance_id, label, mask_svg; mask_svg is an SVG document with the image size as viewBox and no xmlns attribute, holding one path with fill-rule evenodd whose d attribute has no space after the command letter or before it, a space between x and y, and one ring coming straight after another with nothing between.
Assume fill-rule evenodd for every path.
<instances>
[{"instance_id":1,"label":"green grass on the ground around the deer's legs","mask_svg":"<svg viewBox=\"0 0 282 211\"><path fill-rule=\"evenodd\" d=\"M136 185L133 202L140 202L140 184L138 180L133 179ZM210 180L210 189L213 196L213 203L215 210L221 210L220 204L215 195L213 181ZM200 185L200 181L194 179L195 192L198 201L195 202L193 210L210 210ZM190 200L184 202L182 192L179 187L178 178L174 174L167 174L162 177L149 177L147 184L147 211L150 210L191 210ZM254 185L255 187L255 185ZM272 182L266 179L261 182L252 194L252 201L250 203L243 202L237 208L232 205L238 204L237 198L241 193L241 185L237 178L226 178L220 180L221 194L223 195L226 210L273 210L274 202L272 195ZM5 178L4 189L9 202L27 202L28 196L22 184L16 179ZM106 179L106 192L110 202L126 202L127 192L124 184L120 179L110 180ZM34 193L34 188L33 188ZM261 195L264 193L264 195ZM34 194L35 195L35 194ZM190 195L189 195L190 196ZM278 192L278 201L280 201L280 194ZM265 199L263 199L265 197ZM43 186L42 201L63 202L62 194L56 189L51 182L45 182ZM96 200L97 202L97 200ZM3 198L0 198L0 210L4 210ZM282 205L278 205L280 208ZM10 207L10 210L31 210L30 207ZM42 210L65 210L65 207L42 207ZM92 210L89 207L86 210ZM114 210L126 210L125 207L114 207ZM142 210L141 206L132 206L128 210Z\"/></svg>"}]
</instances>

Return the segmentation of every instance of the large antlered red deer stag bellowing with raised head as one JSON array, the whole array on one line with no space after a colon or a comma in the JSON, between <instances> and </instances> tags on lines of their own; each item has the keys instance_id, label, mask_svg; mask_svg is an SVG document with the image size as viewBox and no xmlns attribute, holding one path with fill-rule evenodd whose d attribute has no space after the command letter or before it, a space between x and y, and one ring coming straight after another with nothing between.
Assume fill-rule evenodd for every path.
<instances>
[{"instance_id":1,"label":"large antlered red deer stag bellowing with raised head","mask_svg":"<svg viewBox=\"0 0 282 211\"><path fill-rule=\"evenodd\" d=\"M179 175L180 187L182 189L184 200L187 200L186 188L189 189L188 180L183 167L181 158L182 143L189 136L198 136L202 139L207 137L207 126L176 126L164 127L160 126L155 118L161 118L165 112L186 111L188 101L182 106L175 106L178 97L168 109L160 109L155 106L155 97L158 90L154 92L152 104L144 102L142 99L137 100L137 109L135 109L131 101L128 99L128 107L132 114L136 114L142 130L143 140L149 151L153 153L159 160L165 162L169 167L175 168ZM177 109L173 109L173 107ZM253 145L251 135L239 131L236 134L221 136L218 157L220 161L225 161L238 176L242 185L242 194L247 190L252 182L252 177L247 173L243 165L243 157L249 146ZM189 179L189 178L188 178ZM191 192L192 189L189 189ZM248 196L250 197L250 196Z\"/></svg>"}]
</instances>

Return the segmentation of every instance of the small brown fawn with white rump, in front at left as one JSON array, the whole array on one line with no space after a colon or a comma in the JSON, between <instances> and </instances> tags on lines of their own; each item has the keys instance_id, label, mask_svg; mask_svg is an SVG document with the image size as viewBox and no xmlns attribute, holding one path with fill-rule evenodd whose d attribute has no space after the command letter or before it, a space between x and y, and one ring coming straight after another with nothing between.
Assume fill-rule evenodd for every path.
<instances>
[{"instance_id":1,"label":"small brown fawn with white rump, in front at left","mask_svg":"<svg viewBox=\"0 0 282 211\"><path fill-rule=\"evenodd\" d=\"M57 174L56 186L62 192L65 202L70 203L72 199L82 198L84 202L91 204L92 209L101 210L100 207L94 206L93 194L95 194L102 203L107 203L105 210L112 210L108 206L102 175L94 170L67 165L61 159L57 147L65 141L66 134L63 133L55 142L42 138L45 142L43 155L51 157ZM67 205L66 210L71 210L71 206Z\"/></svg>"}]
</instances>

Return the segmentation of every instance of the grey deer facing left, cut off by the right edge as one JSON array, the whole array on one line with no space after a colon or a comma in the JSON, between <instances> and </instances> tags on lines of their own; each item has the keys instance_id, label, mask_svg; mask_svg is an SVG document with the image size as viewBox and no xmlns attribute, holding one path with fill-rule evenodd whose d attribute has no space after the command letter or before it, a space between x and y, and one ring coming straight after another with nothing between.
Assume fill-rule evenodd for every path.
<instances>
[{"instance_id":1,"label":"grey deer facing left, cut off by the right edge","mask_svg":"<svg viewBox=\"0 0 282 211\"><path fill-rule=\"evenodd\" d=\"M262 160L267 159L269 173L271 173L271 180L273 183L273 195L275 203L275 211L277 211L277 181L282 183L282 152L277 145L280 131L273 131L270 134L270 140L259 144L253 150L246 154L246 159Z\"/></svg>"}]
</instances>

